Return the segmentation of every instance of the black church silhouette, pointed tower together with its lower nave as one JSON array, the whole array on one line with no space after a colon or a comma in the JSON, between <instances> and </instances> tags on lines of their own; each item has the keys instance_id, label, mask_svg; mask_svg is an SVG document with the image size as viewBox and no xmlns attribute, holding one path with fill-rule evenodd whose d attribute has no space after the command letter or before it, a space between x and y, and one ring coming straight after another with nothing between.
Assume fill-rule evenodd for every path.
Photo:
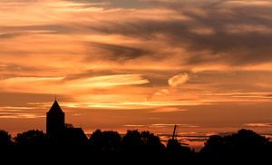
<instances>
[{"instance_id":1,"label":"black church silhouette, pointed tower together with its lower nave","mask_svg":"<svg viewBox=\"0 0 272 165\"><path fill-rule=\"evenodd\" d=\"M56 99L46 113L46 134L53 144L82 145L88 140L82 128L65 124L65 113Z\"/></svg>"}]
</instances>

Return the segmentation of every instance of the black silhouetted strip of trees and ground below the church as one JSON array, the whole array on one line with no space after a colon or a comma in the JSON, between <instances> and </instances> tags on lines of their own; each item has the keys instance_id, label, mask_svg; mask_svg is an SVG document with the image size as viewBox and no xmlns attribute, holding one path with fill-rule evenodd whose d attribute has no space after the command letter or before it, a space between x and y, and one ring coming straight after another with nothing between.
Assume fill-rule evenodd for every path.
<instances>
[{"instance_id":1,"label":"black silhouetted strip of trees and ground below the church","mask_svg":"<svg viewBox=\"0 0 272 165\"><path fill-rule=\"evenodd\" d=\"M8 141L0 133L2 164L266 164L272 143L254 131L210 136L199 152L171 139L166 146L148 131L95 131L87 141L49 141L42 131L27 131ZM45 136L44 136L45 135ZM20 137L22 136L22 137Z\"/></svg>"}]
</instances>

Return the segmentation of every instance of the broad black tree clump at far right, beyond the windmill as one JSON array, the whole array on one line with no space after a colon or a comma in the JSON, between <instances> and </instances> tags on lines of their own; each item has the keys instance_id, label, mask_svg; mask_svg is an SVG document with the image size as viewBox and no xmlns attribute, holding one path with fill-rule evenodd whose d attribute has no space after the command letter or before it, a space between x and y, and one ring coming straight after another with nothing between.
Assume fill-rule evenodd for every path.
<instances>
[{"instance_id":1,"label":"broad black tree clump at far right, beyond the windmill","mask_svg":"<svg viewBox=\"0 0 272 165\"><path fill-rule=\"evenodd\" d=\"M254 131L242 129L228 136L210 136L200 151L208 160L264 160L269 140ZM271 152L271 150L269 151Z\"/></svg>"}]
</instances>

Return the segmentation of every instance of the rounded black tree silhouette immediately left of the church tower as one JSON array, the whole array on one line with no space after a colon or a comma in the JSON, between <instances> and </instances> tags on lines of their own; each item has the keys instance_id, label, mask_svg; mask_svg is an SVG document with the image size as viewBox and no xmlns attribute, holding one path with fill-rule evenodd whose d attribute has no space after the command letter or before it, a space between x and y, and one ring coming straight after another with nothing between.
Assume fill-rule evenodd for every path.
<instances>
[{"instance_id":1,"label":"rounded black tree silhouette immediately left of the church tower","mask_svg":"<svg viewBox=\"0 0 272 165\"><path fill-rule=\"evenodd\" d=\"M15 143L18 146L44 146L48 144L44 131L24 131L15 136Z\"/></svg>"}]
</instances>

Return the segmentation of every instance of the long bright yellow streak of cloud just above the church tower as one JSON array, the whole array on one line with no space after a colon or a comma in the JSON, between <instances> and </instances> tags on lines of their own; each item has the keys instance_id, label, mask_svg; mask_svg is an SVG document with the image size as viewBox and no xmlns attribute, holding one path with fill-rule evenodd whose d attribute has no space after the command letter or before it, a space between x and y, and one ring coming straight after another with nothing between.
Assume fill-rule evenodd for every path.
<instances>
[{"instance_id":1,"label":"long bright yellow streak of cloud just above the church tower","mask_svg":"<svg viewBox=\"0 0 272 165\"><path fill-rule=\"evenodd\" d=\"M34 93L73 93L94 88L148 83L141 74L115 74L63 81L64 77L13 77L0 80L3 91Z\"/></svg>"}]
</instances>

